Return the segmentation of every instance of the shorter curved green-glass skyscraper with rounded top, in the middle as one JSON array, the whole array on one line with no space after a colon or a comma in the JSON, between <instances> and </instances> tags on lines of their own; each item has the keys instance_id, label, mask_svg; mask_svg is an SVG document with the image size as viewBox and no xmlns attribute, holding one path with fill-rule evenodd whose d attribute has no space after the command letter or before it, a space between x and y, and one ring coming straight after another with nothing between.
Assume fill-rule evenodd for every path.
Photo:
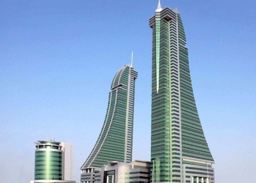
<instances>
[{"instance_id":1,"label":"shorter curved green-glass skyscraper with rounded top, in the middle","mask_svg":"<svg viewBox=\"0 0 256 183\"><path fill-rule=\"evenodd\" d=\"M94 148L81 167L81 182L91 179L110 161L131 162L136 78L137 72L127 65L115 74L105 121Z\"/></svg>"}]
</instances>

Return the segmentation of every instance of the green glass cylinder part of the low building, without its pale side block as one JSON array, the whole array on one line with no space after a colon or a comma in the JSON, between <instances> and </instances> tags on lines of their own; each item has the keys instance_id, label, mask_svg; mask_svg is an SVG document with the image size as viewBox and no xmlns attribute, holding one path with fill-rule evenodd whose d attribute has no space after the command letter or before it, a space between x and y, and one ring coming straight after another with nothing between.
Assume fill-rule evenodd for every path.
<instances>
[{"instance_id":1,"label":"green glass cylinder part of the low building, without its pale side block","mask_svg":"<svg viewBox=\"0 0 256 183\"><path fill-rule=\"evenodd\" d=\"M60 142L36 142L35 180L62 180L63 150Z\"/></svg>"}]
</instances>

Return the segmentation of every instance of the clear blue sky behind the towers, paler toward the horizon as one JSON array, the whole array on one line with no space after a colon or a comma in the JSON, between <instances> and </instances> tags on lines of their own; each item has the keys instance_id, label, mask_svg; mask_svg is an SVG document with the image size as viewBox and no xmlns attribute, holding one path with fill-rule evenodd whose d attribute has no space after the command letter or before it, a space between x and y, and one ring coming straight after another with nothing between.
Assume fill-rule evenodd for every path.
<instances>
[{"instance_id":1,"label":"clear blue sky behind the towers, paler toward the horizon","mask_svg":"<svg viewBox=\"0 0 256 183\"><path fill-rule=\"evenodd\" d=\"M256 170L256 3L162 0L181 15L216 183ZM157 0L0 1L0 182L34 178L34 142L75 147L75 179L103 125L111 80L130 62L133 160L150 160L151 39Z\"/></svg>"}]
</instances>

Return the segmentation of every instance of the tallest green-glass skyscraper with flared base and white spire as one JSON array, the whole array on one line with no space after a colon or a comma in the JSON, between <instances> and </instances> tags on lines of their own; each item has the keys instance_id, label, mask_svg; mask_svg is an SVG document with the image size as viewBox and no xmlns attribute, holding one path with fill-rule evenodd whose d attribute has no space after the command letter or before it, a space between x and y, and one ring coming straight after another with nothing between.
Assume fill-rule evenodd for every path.
<instances>
[{"instance_id":1,"label":"tallest green-glass skyscraper with flared base and white spire","mask_svg":"<svg viewBox=\"0 0 256 183\"><path fill-rule=\"evenodd\" d=\"M151 182L214 182L190 78L188 48L177 9L150 18L152 41Z\"/></svg>"}]
</instances>

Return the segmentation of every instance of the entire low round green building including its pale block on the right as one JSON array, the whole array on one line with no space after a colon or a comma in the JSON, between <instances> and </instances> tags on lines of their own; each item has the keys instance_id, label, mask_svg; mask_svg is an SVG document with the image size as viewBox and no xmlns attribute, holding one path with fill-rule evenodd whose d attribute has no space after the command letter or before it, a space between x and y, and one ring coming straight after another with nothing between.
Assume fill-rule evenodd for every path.
<instances>
[{"instance_id":1,"label":"entire low round green building including its pale block on the right","mask_svg":"<svg viewBox=\"0 0 256 183\"><path fill-rule=\"evenodd\" d=\"M73 179L73 146L67 142L40 140L35 149L35 180L44 183L75 183Z\"/></svg>"}]
</instances>

